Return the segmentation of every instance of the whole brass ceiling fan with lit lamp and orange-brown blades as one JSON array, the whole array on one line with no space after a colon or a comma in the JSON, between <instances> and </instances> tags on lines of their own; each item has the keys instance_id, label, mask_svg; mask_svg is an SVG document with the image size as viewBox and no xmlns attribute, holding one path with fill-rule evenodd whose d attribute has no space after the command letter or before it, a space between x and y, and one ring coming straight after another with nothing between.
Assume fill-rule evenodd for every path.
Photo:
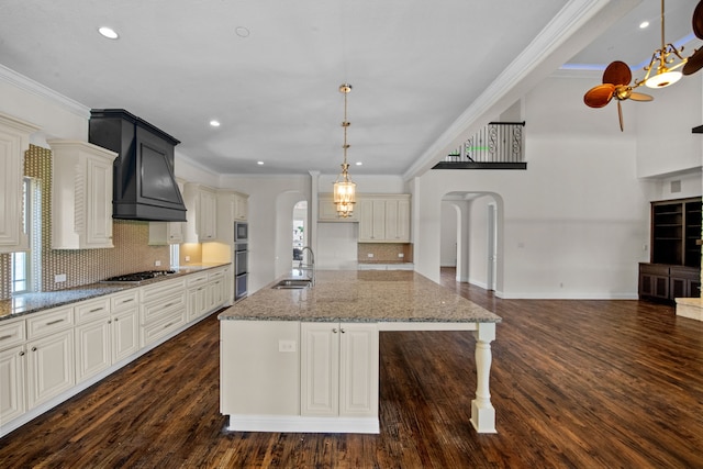
<instances>
[{"instance_id":1,"label":"whole brass ceiling fan with lit lamp and orange-brown blades","mask_svg":"<svg viewBox=\"0 0 703 469\"><path fill-rule=\"evenodd\" d=\"M703 40L703 0L699 1L699 4L693 11L693 32L699 38ZM703 47L695 49L693 55L687 58L681 56L681 51L683 51L683 47L679 51L671 44L665 44L663 0L661 0L661 48L655 51L649 65L645 67L647 71L645 78L643 80L635 80L634 85L631 86L629 82L633 76L629 67L624 62L615 60L605 68L603 72L603 85L599 85L587 91L583 96L583 102L590 108L603 108L615 98L617 101L620 130L622 132L624 125L621 101L625 101L626 99L632 99L633 101L651 101L654 99L649 94L635 92L635 88L641 85L646 85L649 88L663 88L678 81L681 75L693 75L703 68ZM681 62L669 67L669 65L674 62L673 56L678 57ZM683 66L682 72L674 71L681 66ZM652 71L655 71L655 75L651 75Z\"/></svg>"}]
</instances>

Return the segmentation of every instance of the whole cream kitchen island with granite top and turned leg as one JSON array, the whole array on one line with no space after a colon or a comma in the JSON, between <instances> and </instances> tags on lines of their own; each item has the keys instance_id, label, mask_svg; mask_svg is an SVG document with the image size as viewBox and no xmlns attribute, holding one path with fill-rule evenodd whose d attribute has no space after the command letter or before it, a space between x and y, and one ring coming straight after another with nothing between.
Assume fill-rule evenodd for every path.
<instances>
[{"instance_id":1,"label":"whole cream kitchen island with granite top and turned leg","mask_svg":"<svg viewBox=\"0 0 703 469\"><path fill-rule=\"evenodd\" d=\"M490 343L500 316L413 271L316 271L310 288L255 292L219 315L228 429L379 433L379 332L470 331L471 424L495 433Z\"/></svg>"}]
</instances>

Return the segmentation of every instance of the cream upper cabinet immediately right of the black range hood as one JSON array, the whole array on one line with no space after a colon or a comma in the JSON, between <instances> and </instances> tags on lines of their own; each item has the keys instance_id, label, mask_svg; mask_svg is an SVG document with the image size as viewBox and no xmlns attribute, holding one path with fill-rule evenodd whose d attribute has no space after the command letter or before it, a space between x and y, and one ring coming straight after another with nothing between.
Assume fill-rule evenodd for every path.
<instances>
[{"instance_id":1,"label":"cream upper cabinet immediately right of the black range hood","mask_svg":"<svg viewBox=\"0 0 703 469\"><path fill-rule=\"evenodd\" d=\"M183 199L188 210L186 243L205 243L217 236L217 194L205 186L187 182Z\"/></svg>"}]
</instances>

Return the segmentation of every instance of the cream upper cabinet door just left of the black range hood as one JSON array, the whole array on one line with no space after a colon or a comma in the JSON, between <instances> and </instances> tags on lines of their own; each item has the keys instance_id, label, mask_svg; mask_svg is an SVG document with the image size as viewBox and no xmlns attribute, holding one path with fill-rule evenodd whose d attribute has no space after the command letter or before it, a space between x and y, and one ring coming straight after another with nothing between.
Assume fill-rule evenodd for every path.
<instances>
[{"instance_id":1,"label":"cream upper cabinet door just left of the black range hood","mask_svg":"<svg viewBox=\"0 0 703 469\"><path fill-rule=\"evenodd\" d=\"M102 158L86 164L86 244L112 247L112 164Z\"/></svg>"}]
</instances>

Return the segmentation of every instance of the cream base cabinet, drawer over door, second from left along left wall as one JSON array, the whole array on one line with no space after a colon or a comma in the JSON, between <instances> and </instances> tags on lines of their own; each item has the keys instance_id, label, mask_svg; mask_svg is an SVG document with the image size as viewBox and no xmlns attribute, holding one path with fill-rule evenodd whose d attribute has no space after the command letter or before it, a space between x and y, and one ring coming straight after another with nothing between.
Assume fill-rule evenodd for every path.
<instances>
[{"instance_id":1,"label":"cream base cabinet, drawer over door, second from left along left wall","mask_svg":"<svg viewBox=\"0 0 703 469\"><path fill-rule=\"evenodd\" d=\"M74 309L30 316L26 326L27 409L32 409L75 383Z\"/></svg>"}]
</instances>

